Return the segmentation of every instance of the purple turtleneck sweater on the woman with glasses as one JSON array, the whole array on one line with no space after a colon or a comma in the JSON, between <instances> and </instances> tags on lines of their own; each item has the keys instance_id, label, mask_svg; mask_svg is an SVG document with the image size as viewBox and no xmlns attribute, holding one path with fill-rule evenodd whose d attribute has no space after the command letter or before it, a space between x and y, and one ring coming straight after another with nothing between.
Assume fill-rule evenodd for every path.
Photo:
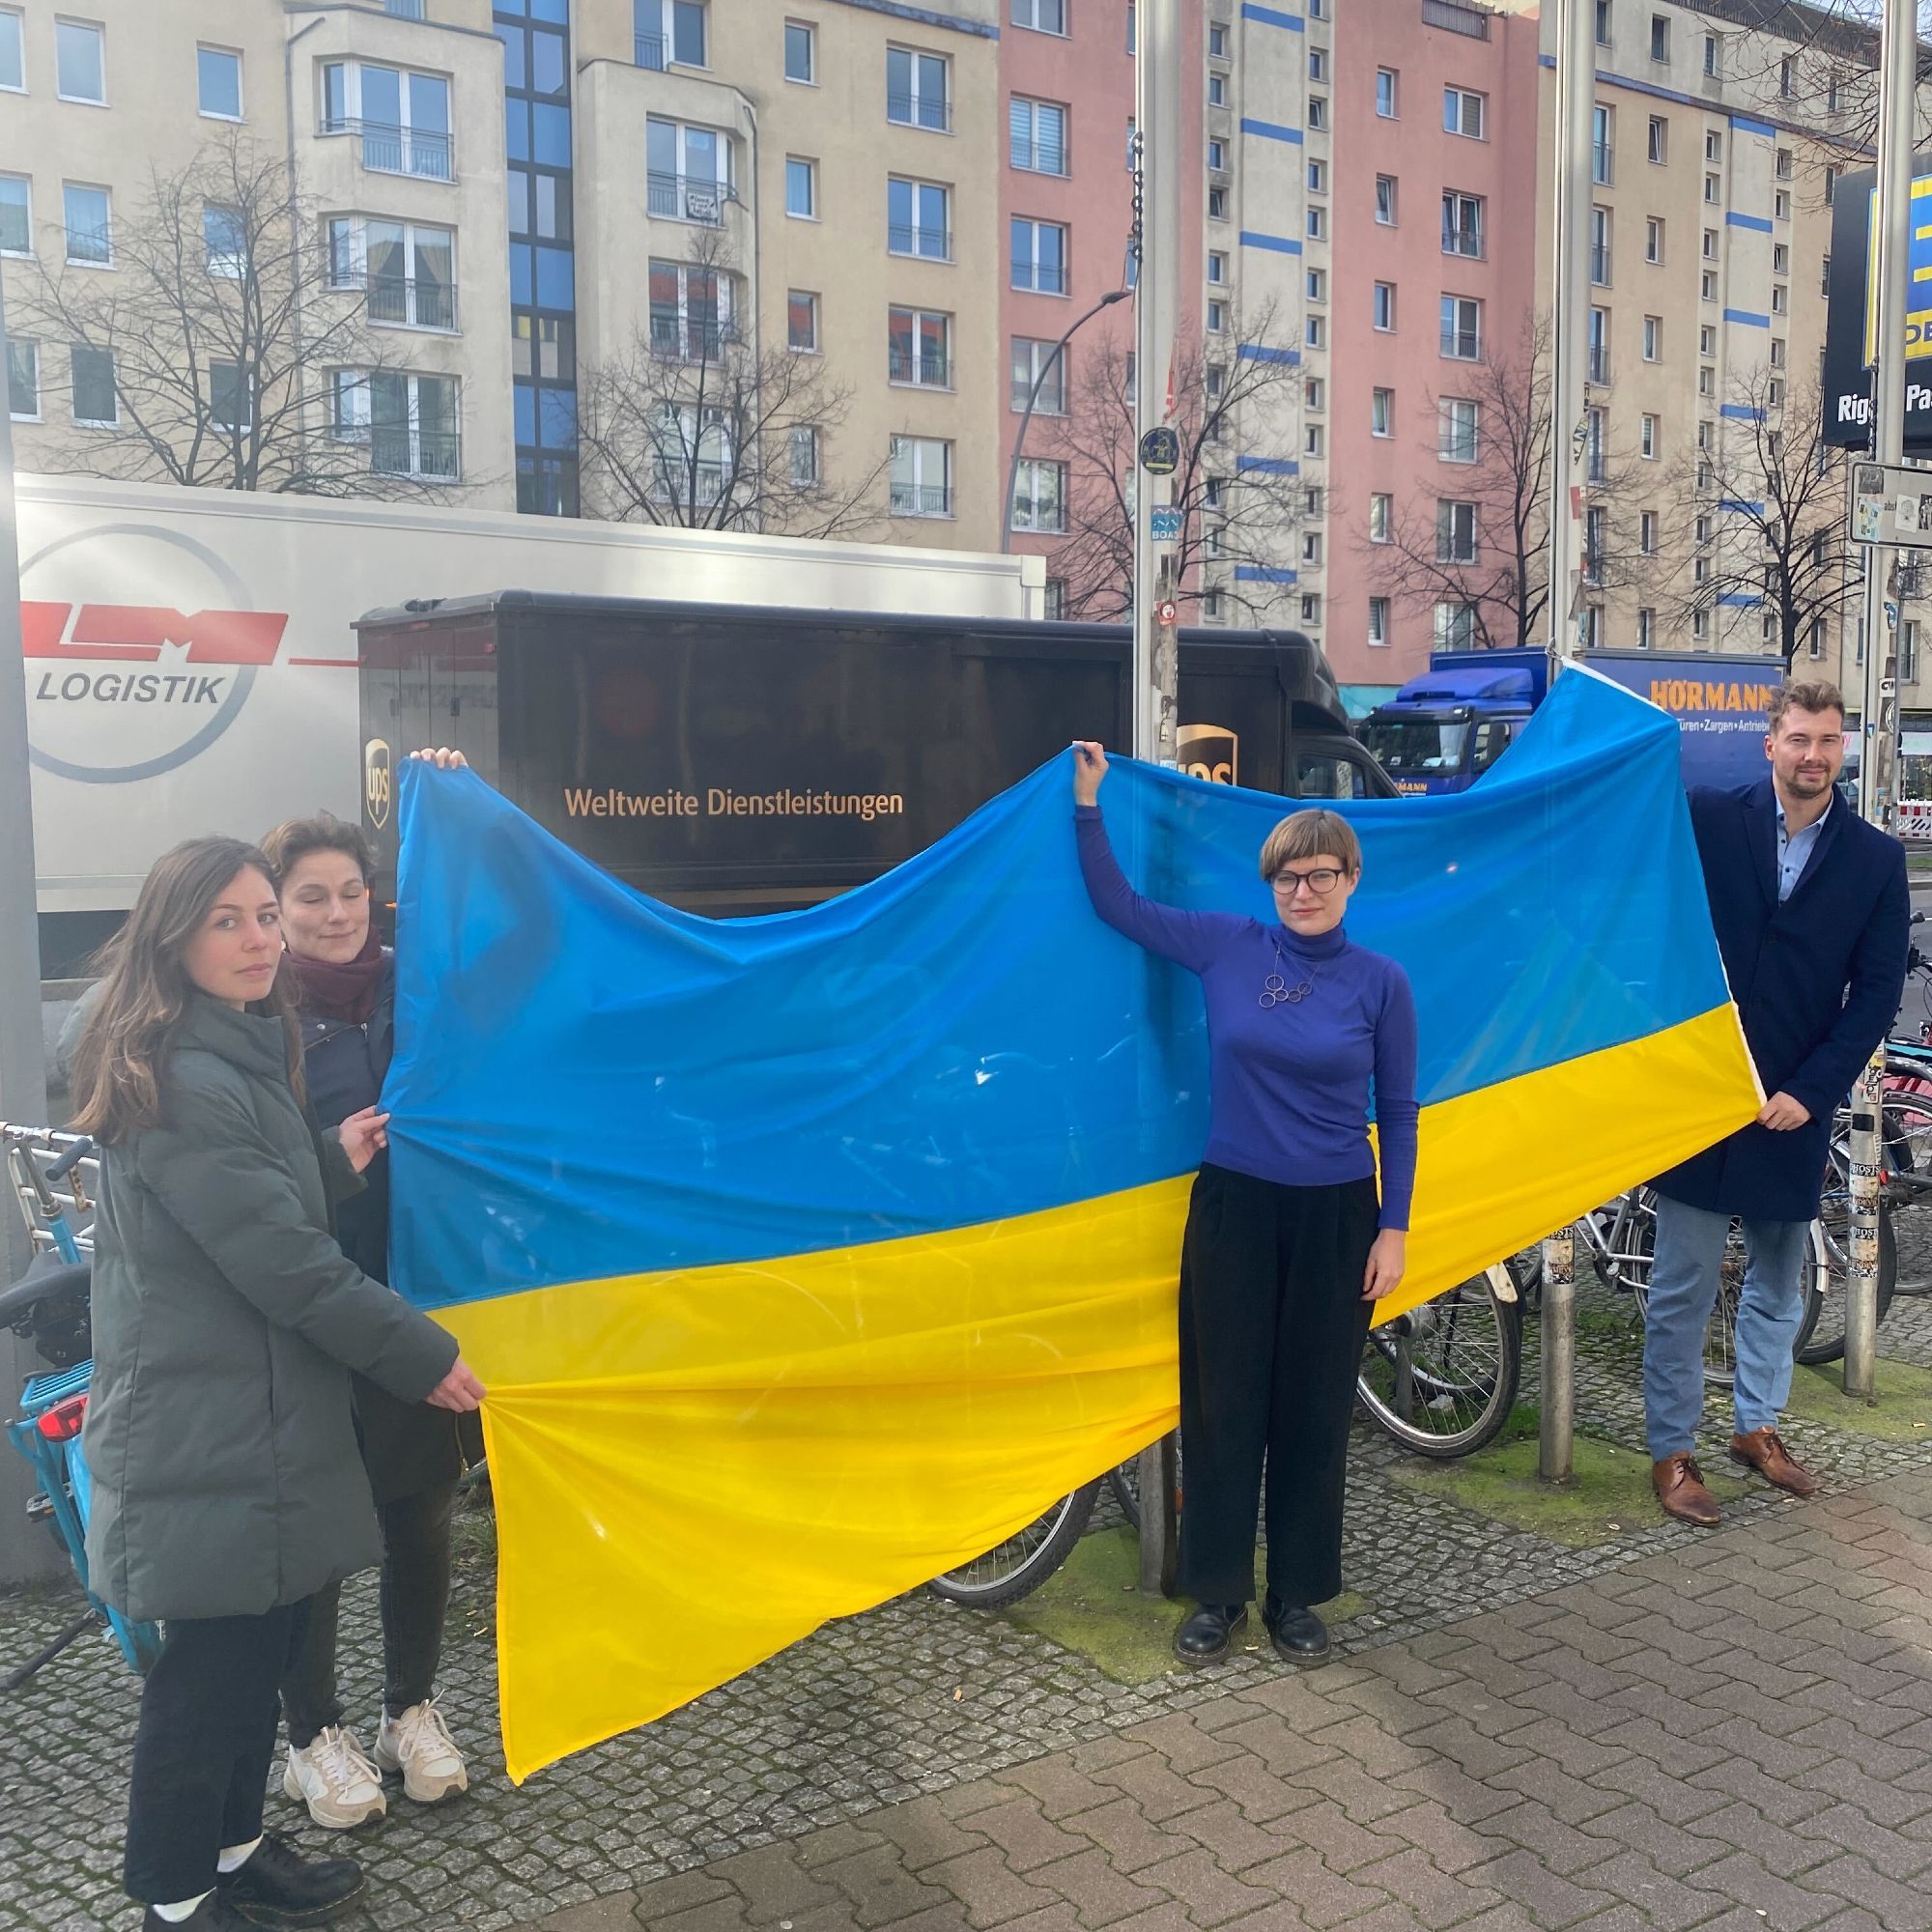
<instances>
[{"instance_id":1,"label":"purple turtleneck sweater on the woman with glasses","mask_svg":"<svg viewBox=\"0 0 1932 1932\"><path fill-rule=\"evenodd\" d=\"M1074 806L1080 871L1094 910L1119 933L1200 974L1208 999L1211 1101L1204 1161L1314 1188L1376 1173L1370 1092L1381 1138L1381 1225L1408 1227L1416 1184L1416 1001L1395 960L1337 925L1300 935L1235 912L1182 912L1142 898L1107 842L1099 806ZM1308 983L1264 1007L1269 974Z\"/></svg>"}]
</instances>

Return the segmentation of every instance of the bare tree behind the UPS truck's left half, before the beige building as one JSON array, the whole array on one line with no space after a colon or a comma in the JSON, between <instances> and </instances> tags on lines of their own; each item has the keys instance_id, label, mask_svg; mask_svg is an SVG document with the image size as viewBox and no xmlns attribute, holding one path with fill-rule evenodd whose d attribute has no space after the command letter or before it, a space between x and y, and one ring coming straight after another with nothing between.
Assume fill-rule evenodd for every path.
<instances>
[{"instance_id":1,"label":"bare tree behind the UPS truck's left half, before the beige building","mask_svg":"<svg viewBox=\"0 0 1932 1932\"><path fill-rule=\"evenodd\" d=\"M653 263L651 276L649 319L612 359L580 371L583 485L599 512L794 537L873 524L885 460L837 485L825 473L850 390L823 355L757 344L723 238L703 234L690 261Z\"/></svg>"}]
</instances>

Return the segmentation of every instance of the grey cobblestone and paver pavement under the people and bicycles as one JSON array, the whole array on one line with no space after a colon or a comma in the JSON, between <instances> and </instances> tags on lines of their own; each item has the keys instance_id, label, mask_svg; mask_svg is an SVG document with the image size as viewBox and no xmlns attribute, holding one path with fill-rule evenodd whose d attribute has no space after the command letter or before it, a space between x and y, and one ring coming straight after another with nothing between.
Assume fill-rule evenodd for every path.
<instances>
[{"instance_id":1,"label":"grey cobblestone and paver pavement under the people and bicycles","mask_svg":"<svg viewBox=\"0 0 1932 1932\"><path fill-rule=\"evenodd\" d=\"M1584 1312L1578 1424L1640 1445L1634 1314L1596 1294ZM1895 1304L1882 1347L1932 1362L1932 1304ZM1524 1389L1534 1391L1534 1350ZM1718 1451L1729 1428L1719 1405L1710 1424ZM1779 1932L1826 1920L1833 1886L1820 1872L1845 1859L1841 1889L1870 1915L1845 1918L1843 1932L1932 1932L1932 1878L1917 1917L1899 1903L1932 1864L1922 1822L1932 1812L1932 1669L1920 1654L1932 1621L1918 1621L1932 1619L1922 1594L1932 1567L1917 1528L1932 1505L1932 1445L1803 1424L1787 1435L1830 1476L1826 1499L1799 1509L1756 1490L1716 1538L1671 1524L1571 1549L1395 1482L1399 1453L1364 1428L1347 1575L1368 1609L1337 1633L1339 1662L1321 1673L1285 1677L1256 1654L1208 1675L1121 1685L1045 1638L916 1592L819 1631L522 1791L493 1747L483 1538L460 1577L444 1671L444 1708L473 1748L475 1787L437 1812L398 1797L388 1820L355 1835L375 1886L350 1924L510 1932L578 1907L583 1917L556 1918L554 1932L589 1932L628 1924L622 1901L641 1897L645 1922L688 1932L784 1918L798 1932L902 1917L995 1924L1014 1901L1007 1917L1016 1922L1045 1909L1030 1922L1036 1932L1242 1915L1283 1926L1476 1918L1490 1932L1604 1911L1613 1917L1596 1922L1621 1932L1712 1920L1708 1899L1743 1899L1762 1866L1779 1880L1776 1895L1752 1893L1735 1924L1750 1932L1766 1922L1762 1909ZM487 1532L487 1519L471 1530ZM1706 1621L1681 1602L1692 1596L1710 1619L1743 1619L1743 1634L1689 1634ZM0 1600L0 1660L31 1652L68 1609L58 1596ZM352 1708L367 1712L365 1741L377 1663L365 1580L344 1605L342 1663ZM1841 1692L1866 1702L1853 1710ZM93 1642L0 1700L0 1932L131 1922L116 1880L133 1712L133 1679ZM1839 1729L1851 1721L1884 1743ZM1235 1737L1246 1756L1209 1762L1200 1743L1209 1737ZM1242 1766L1225 1774L1227 1791L1215 1764ZM1677 1793L1677 1776L1704 1785ZM1076 1781L1034 1787L1053 1777ZM1812 1789L1812 1777L1824 1785ZM1099 1799L1095 1785L1107 1787ZM968 1824L956 1808L976 1801L997 1818ZM1088 1826L1117 1824L1119 1847L1088 1826L1053 1835L1107 1806ZM1036 1830L1034 1810L1037 1837L1010 1847L1001 1833ZM1401 1833L1385 1826L1395 1816L1406 1818ZM941 1818L956 1835L939 1830ZM270 1828L296 1820L276 1785ZM1638 1843L1652 1820L1665 1830ZM918 1832L929 1835L893 1849ZM1416 1845L1410 1832L1432 1837ZM1631 1839L1623 1849L1619 1833ZM1801 1857L1818 1833L1830 1843ZM1708 1857L1692 1857L1714 1841ZM931 1866L962 1861L956 1884L923 1864L914 1876L908 1861L927 1853ZM1065 1861L1082 1861L1101 1889L1055 1905L1061 1895L1041 1893L1030 1874ZM1155 1866L1167 1876L1148 1882ZM1368 1866L1376 1872L1364 1878ZM1258 1878L1262 1868L1271 1876ZM796 1893L757 1889L757 1874L782 1888L794 1872L810 1874ZM1464 1884L1468 1872L1480 1882ZM1391 1884L1401 1874L1412 1888ZM1870 1895L1853 1893L1866 1878ZM985 1893L972 1889L981 1880ZM1177 1917L1177 1888L1192 1918ZM1522 1917L1524 1897L1542 1899L1538 1918ZM676 1920L676 1899L699 1917ZM781 1899L786 1909L765 1913ZM902 1899L916 1911L898 1913ZM927 1909L935 1917L918 1918Z\"/></svg>"}]
</instances>

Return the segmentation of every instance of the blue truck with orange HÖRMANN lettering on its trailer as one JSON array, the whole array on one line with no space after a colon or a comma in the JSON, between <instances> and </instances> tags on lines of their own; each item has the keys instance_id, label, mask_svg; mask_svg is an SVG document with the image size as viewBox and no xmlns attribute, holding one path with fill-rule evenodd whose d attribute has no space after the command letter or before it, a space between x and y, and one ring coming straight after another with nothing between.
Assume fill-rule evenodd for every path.
<instances>
[{"instance_id":1,"label":"blue truck with orange H\u00d6RMANN lettering on its trailer","mask_svg":"<svg viewBox=\"0 0 1932 1932\"><path fill-rule=\"evenodd\" d=\"M1584 663L1677 719L1685 784L1764 775L1764 701L1785 678L1781 657L1590 651ZM1548 690L1542 651L1437 651L1370 711L1362 742L1399 792L1461 792L1509 750Z\"/></svg>"}]
</instances>

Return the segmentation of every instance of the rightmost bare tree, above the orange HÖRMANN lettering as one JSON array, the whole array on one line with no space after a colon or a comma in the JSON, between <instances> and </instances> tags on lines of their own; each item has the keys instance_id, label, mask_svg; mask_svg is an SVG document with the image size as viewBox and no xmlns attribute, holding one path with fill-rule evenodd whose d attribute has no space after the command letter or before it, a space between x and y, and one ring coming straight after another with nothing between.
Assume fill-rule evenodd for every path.
<instances>
[{"instance_id":1,"label":"rightmost bare tree, above the orange H\u00d6RMANN lettering","mask_svg":"<svg viewBox=\"0 0 1932 1932\"><path fill-rule=\"evenodd\" d=\"M1779 392L1777 381L1758 369L1733 383L1737 408L1718 448L1675 479L1669 607L1679 624L1704 628L1721 611L1758 622L1768 612L1789 670L1812 626L1843 614L1859 556L1845 529L1845 452L1824 439L1818 384Z\"/></svg>"}]
</instances>

